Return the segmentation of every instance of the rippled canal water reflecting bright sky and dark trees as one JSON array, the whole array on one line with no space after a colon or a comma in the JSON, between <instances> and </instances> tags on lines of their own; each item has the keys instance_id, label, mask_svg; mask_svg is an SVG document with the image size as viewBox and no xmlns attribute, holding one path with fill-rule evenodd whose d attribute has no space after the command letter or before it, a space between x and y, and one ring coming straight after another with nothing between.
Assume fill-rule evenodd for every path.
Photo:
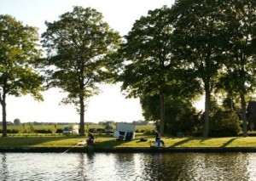
<instances>
[{"instance_id":1,"label":"rippled canal water reflecting bright sky and dark trees","mask_svg":"<svg viewBox=\"0 0 256 181\"><path fill-rule=\"evenodd\" d=\"M0 180L256 181L256 153L0 153Z\"/></svg>"}]
</instances>

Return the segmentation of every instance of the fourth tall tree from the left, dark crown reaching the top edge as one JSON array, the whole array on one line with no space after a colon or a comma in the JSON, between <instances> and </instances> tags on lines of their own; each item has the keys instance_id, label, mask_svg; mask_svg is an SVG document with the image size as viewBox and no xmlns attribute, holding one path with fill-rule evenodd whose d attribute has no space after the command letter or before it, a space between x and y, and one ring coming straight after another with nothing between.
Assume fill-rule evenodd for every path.
<instances>
[{"instance_id":1,"label":"fourth tall tree from the left, dark crown reaching the top edge","mask_svg":"<svg viewBox=\"0 0 256 181\"><path fill-rule=\"evenodd\" d=\"M222 45L225 43L223 1L177 0L172 6L173 53L187 65L189 77L201 83L205 94L203 136L209 132L211 93L222 68Z\"/></svg>"}]
</instances>

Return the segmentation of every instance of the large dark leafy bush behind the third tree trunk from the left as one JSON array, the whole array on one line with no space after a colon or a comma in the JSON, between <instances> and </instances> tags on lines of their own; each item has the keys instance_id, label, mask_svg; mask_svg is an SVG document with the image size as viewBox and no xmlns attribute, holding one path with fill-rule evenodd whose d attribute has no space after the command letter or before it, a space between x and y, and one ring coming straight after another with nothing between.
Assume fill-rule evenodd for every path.
<instances>
[{"instance_id":1,"label":"large dark leafy bush behind the third tree trunk from the left","mask_svg":"<svg viewBox=\"0 0 256 181\"><path fill-rule=\"evenodd\" d=\"M143 107L143 116L156 123L158 129L158 120L160 118L159 101L157 96L143 96L141 104ZM166 133L176 135L182 132L185 135L201 132L201 112L193 108L189 99L166 98Z\"/></svg>"}]
</instances>

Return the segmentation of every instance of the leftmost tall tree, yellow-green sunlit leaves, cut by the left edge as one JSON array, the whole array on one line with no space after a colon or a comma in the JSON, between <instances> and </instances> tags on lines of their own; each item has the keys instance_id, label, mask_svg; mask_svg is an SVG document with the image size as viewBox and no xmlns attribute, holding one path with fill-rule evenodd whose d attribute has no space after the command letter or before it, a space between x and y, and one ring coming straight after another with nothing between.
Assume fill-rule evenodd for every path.
<instances>
[{"instance_id":1,"label":"leftmost tall tree, yellow-green sunlit leaves, cut by the left edge","mask_svg":"<svg viewBox=\"0 0 256 181\"><path fill-rule=\"evenodd\" d=\"M3 113L3 137L7 136L6 97L31 93L43 100L39 93L43 79L33 69L40 55L37 29L22 25L9 15L0 15L0 103Z\"/></svg>"}]
</instances>

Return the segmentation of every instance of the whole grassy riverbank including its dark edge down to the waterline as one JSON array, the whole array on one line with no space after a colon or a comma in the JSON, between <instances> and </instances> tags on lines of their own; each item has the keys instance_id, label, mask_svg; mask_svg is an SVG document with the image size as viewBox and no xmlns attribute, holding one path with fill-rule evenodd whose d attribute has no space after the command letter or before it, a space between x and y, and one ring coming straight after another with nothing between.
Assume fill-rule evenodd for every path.
<instances>
[{"instance_id":1,"label":"whole grassy riverbank including its dark edge down to the waterline","mask_svg":"<svg viewBox=\"0 0 256 181\"><path fill-rule=\"evenodd\" d=\"M145 141L141 141L142 138ZM256 152L255 137L162 138L166 146L150 147L154 135L137 135L131 141L116 141L112 135L95 135L95 146L80 136L1 137L0 152Z\"/></svg>"}]
</instances>

